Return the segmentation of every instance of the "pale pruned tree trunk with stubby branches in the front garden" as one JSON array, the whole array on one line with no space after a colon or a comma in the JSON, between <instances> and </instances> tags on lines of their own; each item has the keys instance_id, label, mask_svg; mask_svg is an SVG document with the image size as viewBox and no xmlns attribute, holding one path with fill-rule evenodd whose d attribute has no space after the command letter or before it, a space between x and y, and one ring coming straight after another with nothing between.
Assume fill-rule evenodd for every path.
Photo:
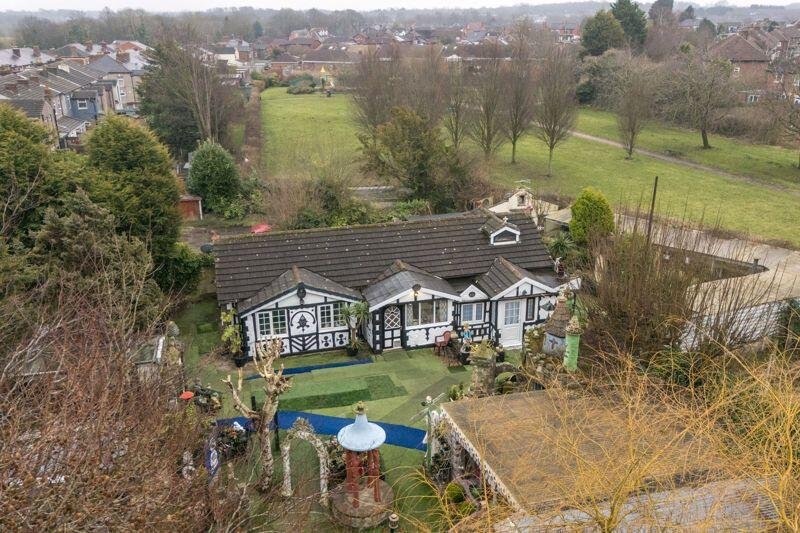
<instances>
[{"instance_id":1,"label":"pale pruned tree trunk with stubby branches in the front garden","mask_svg":"<svg viewBox=\"0 0 800 533\"><path fill-rule=\"evenodd\" d=\"M275 361L281 355L280 339L269 339L265 342L256 344L253 364L256 371L263 380L264 404L259 411L251 409L242 401L242 369L239 368L239 381L236 387L231 382L230 375L223 379L223 383L228 385L233 396L234 408L242 415L251 418L256 427L259 438L261 439L261 479L259 488L267 490L272 482L272 472L274 469L274 459L272 457L272 430L270 423L275 418L278 411L278 396L289 390L292 386L292 378L283 375L283 365L279 370L275 370Z\"/></svg>"}]
</instances>

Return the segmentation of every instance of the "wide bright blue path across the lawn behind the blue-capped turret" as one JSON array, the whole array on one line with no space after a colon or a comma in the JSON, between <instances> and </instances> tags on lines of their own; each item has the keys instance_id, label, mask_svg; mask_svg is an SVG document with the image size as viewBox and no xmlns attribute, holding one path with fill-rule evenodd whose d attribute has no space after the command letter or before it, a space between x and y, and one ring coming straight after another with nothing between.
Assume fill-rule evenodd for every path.
<instances>
[{"instance_id":1,"label":"wide bright blue path across the lawn behind the blue-capped turret","mask_svg":"<svg viewBox=\"0 0 800 533\"><path fill-rule=\"evenodd\" d=\"M344 426L353 423L352 418L317 415L304 411L278 411L278 427L280 429L289 429L298 418L305 418L308 420L311 425L314 426L314 431L321 435L336 435ZM216 423L220 426L227 426L233 425L234 421L239 422L242 427L252 431L250 419L241 416L236 418L220 418ZM388 424L386 422L375 423L386 431L386 444L425 451L425 444L422 443L422 439L425 438L425 432L423 430L401 426L399 424Z\"/></svg>"}]
</instances>

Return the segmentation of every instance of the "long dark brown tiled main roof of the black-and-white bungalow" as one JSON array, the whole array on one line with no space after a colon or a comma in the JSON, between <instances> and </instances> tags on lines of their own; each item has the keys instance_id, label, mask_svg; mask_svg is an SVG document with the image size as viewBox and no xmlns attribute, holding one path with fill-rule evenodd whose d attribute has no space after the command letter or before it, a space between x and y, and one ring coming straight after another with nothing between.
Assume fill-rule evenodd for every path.
<instances>
[{"instance_id":1,"label":"long dark brown tiled main roof of the black-and-white bungalow","mask_svg":"<svg viewBox=\"0 0 800 533\"><path fill-rule=\"evenodd\" d=\"M443 219L223 239L214 245L217 298L220 303L248 298L291 265L353 289L379 279L395 259L445 279L481 275L500 253L529 271L552 271L553 261L530 217L511 217L520 229L520 242L502 249L481 232L486 218L471 211Z\"/></svg>"}]
</instances>

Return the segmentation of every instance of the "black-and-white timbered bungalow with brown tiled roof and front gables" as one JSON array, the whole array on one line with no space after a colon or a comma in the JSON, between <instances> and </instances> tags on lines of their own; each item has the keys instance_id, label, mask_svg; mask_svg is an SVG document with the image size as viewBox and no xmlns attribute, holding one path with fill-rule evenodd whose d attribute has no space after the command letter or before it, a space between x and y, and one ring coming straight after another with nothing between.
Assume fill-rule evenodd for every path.
<instances>
[{"instance_id":1,"label":"black-and-white timbered bungalow with brown tiled roof and front gables","mask_svg":"<svg viewBox=\"0 0 800 533\"><path fill-rule=\"evenodd\" d=\"M386 224L272 232L214 244L217 299L236 309L245 353L267 338L283 354L343 347L344 306L366 302L374 352L431 346L469 325L519 346L552 312L559 280L536 224L488 210Z\"/></svg>"}]
</instances>

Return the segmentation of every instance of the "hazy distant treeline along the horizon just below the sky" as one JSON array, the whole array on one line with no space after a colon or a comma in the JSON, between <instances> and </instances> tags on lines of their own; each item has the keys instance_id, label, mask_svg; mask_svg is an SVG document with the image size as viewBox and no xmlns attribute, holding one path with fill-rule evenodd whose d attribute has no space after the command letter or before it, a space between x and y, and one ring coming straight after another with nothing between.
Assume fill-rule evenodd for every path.
<instances>
[{"instance_id":1,"label":"hazy distant treeline along the horizon just below the sky","mask_svg":"<svg viewBox=\"0 0 800 533\"><path fill-rule=\"evenodd\" d=\"M209 41L235 35L254 39L261 35L286 37L300 28L327 28L336 36L350 37L364 28L376 25L408 27L450 26L467 22L484 22L505 26L522 16L557 24L565 20L580 22L608 2L571 2L545 5L515 5L480 9L380 9L372 11L325 11L309 9L256 9L252 7L218 8L202 12L152 13L141 9L95 12L75 10L0 11L0 36L18 46L58 47L70 42L114 39L136 39L150 42L165 29L191 26ZM646 10L649 4L642 3ZM687 3L688 5L688 3ZM734 22L773 18L800 18L800 4L789 6L722 6L696 7L697 18L715 22ZM171 31L171 30L169 30Z\"/></svg>"}]
</instances>

